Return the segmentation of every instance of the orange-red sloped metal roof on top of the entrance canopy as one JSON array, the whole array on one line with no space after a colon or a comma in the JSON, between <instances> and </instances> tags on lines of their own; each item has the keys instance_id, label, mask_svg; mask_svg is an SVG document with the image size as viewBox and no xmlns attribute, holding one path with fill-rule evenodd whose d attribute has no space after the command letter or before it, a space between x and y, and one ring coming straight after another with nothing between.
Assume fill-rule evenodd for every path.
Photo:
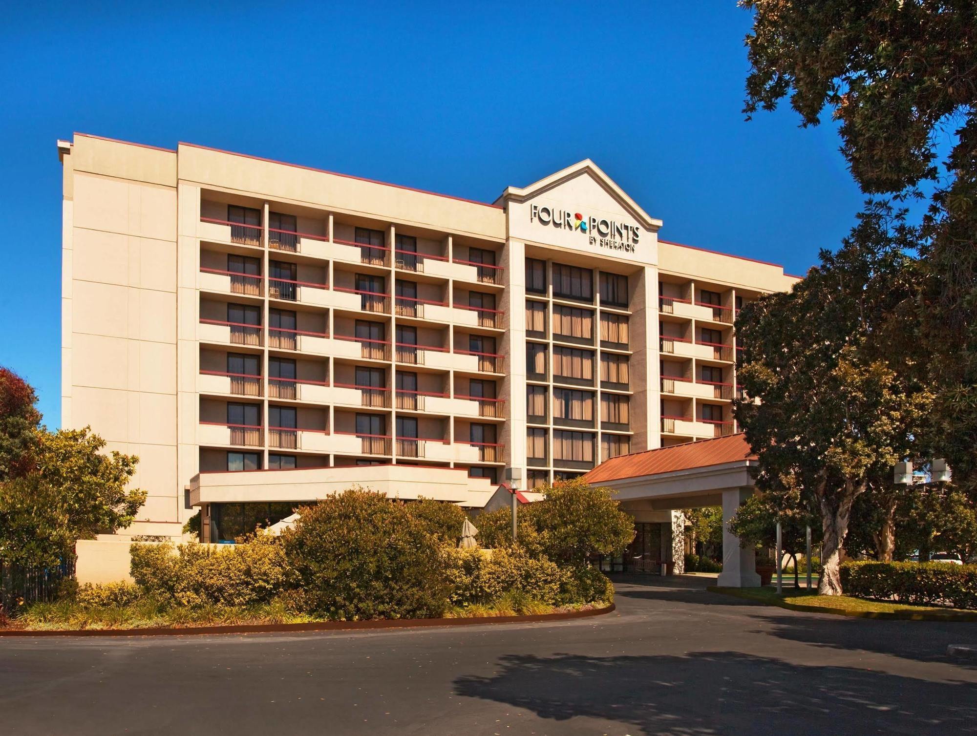
<instances>
[{"instance_id":1,"label":"orange-red sloped metal roof on top of the entrance canopy","mask_svg":"<svg viewBox=\"0 0 977 736\"><path fill-rule=\"evenodd\" d=\"M637 478L675 470L708 468L746 460L756 460L756 455L749 449L746 437L741 432L728 437L703 439L700 442L687 442L631 455L619 455L604 461L583 477L589 483L604 483L610 480Z\"/></svg>"}]
</instances>

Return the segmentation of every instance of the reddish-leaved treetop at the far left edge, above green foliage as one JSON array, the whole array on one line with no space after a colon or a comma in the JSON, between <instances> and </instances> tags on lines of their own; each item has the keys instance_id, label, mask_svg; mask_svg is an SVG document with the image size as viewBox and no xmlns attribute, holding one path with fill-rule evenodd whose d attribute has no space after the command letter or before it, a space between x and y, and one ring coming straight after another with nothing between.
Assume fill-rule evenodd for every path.
<instances>
[{"instance_id":1,"label":"reddish-leaved treetop at the far left edge, above green foliage","mask_svg":"<svg viewBox=\"0 0 977 736\"><path fill-rule=\"evenodd\" d=\"M41 413L37 394L20 376L0 367L0 483L30 470Z\"/></svg>"}]
</instances>

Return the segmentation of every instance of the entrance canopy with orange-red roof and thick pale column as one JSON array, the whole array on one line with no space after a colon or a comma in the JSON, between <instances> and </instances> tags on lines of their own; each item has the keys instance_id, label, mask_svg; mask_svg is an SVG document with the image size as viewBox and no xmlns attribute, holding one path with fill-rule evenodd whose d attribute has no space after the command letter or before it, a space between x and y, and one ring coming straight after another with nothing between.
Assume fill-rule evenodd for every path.
<instances>
[{"instance_id":1,"label":"entrance canopy with orange-red roof and thick pale column","mask_svg":"<svg viewBox=\"0 0 977 736\"><path fill-rule=\"evenodd\" d=\"M668 511L701 506L723 508L723 571L719 585L759 586L754 552L743 549L729 520L753 492L750 468L756 455L741 434L621 455L590 470L591 485L610 486L625 511Z\"/></svg>"}]
</instances>

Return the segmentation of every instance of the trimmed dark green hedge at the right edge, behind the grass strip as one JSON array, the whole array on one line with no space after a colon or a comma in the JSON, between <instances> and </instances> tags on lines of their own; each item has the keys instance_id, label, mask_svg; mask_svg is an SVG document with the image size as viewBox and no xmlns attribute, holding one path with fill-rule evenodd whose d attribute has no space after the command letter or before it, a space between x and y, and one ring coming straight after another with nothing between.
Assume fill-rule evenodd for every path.
<instances>
[{"instance_id":1,"label":"trimmed dark green hedge at the right edge, behind the grass strip","mask_svg":"<svg viewBox=\"0 0 977 736\"><path fill-rule=\"evenodd\" d=\"M841 564L841 587L862 598L977 609L977 565L849 561Z\"/></svg>"}]
</instances>

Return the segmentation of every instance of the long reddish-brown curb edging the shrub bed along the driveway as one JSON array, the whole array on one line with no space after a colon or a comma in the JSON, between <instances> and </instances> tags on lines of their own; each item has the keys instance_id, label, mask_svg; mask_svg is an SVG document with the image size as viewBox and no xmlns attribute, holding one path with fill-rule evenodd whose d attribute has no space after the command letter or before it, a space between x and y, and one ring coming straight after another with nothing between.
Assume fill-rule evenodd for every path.
<instances>
[{"instance_id":1,"label":"long reddish-brown curb edging the shrub bed along the driveway","mask_svg":"<svg viewBox=\"0 0 977 736\"><path fill-rule=\"evenodd\" d=\"M376 629L414 629L435 626L479 626L486 624L529 624L547 621L566 621L601 616L617 608L612 603L604 608L563 613L541 613L532 616L473 616L469 619L383 619L378 621L317 621L307 624L241 624L238 626L193 626L156 629L58 629L31 631L29 629L0 630L0 636L193 636L200 634L281 634L290 632L348 632Z\"/></svg>"}]
</instances>

